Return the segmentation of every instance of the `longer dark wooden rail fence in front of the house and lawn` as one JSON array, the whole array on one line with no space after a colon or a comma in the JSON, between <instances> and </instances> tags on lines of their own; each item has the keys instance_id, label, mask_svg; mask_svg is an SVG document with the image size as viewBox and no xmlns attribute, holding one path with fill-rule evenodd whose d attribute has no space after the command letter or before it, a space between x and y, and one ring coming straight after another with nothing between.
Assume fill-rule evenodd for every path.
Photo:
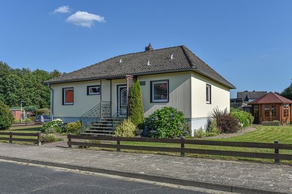
<instances>
[{"instance_id":1,"label":"longer dark wooden rail fence in front of the house and lawn","mask_svg":"<svg viewBox=\"0 0 292 194\"><path fill-rule=\"evenodd\" d=\"M128 137L81 136L81 135L71 135L71 134L69 134L67 138L68 138L67 144L69 147L93 146L93 147L104 147L104 148L116 148L117 151L121 151L121 149L131 149L131 150L143 150L143 151L179 152L181 153L181 156L184 156L185 153L193 153L193 154L205 154L205 155L217 155L217 156L273 159L275 163L279 163L280 160L292 160L292 154L279 154L279 149L292 150L292 144L279 144L277 140L275 140L274 143L253 143L253 142L224 142L224 141L194 140L194 139L184 139L184 138L181 138L181 139L140 138L140 137L128 138ZM72 141L73 139L116 141L117 144L114 145L114 144L74 142ZM122 141L181 144L181 147L128 146L128 145L121 145L120 143ZM268 149L274 149L274 153L185 148L184 147L185 144L205 145L205 146L268 148Z\"/></svg>"}]
</instances>

